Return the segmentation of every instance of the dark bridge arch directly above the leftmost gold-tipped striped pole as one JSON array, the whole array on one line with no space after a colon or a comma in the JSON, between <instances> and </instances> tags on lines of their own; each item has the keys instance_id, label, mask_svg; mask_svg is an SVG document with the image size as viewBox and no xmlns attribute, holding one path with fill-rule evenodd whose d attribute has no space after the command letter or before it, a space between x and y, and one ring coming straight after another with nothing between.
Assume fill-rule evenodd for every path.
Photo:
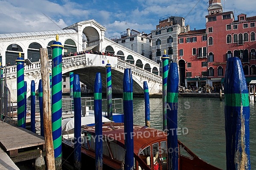
<instances>
[{"instance_id":1,"label":"dark bridge arch directly above the leftmost gold-tipped striped pole","mask_svg":"<svg viewBox=\"0 0 256 170\"><path fill-rule=\"evenodd\" d=\"M17 44L11 44L6 49L6 63L15 65L15 60L19 57L19 53L23 52L23 49ZM21 53L21 57L24 58L24 54Z\"/></svg>"}]
</instances>

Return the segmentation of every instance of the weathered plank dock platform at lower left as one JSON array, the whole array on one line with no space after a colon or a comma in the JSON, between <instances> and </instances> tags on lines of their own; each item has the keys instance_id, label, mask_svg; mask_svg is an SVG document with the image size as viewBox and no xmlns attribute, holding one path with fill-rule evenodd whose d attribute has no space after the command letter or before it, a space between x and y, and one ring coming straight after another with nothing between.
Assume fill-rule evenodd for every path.
<instances>
[{"instance_id":1,"label":"weathered plank dock platform at lower left","mask_svg":"<svg viewBox=\"0 0 256 170\"><path fill-rule=\"evenodd\" d=\"M0 122L0 147L15 163L45 156L44 137L5 122Z\"/></svg>"}]
</instances>

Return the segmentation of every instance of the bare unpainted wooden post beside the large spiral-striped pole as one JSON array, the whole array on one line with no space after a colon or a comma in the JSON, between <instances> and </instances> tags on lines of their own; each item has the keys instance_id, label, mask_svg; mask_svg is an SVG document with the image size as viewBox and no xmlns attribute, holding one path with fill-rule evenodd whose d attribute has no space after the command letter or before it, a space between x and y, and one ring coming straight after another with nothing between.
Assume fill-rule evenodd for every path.
<instances>
[{"instance_id":1,"label":"bare unpainted wooden post beside the large spiral-striped pole","mask_svg":"<svg viewBox=\"0 0 256 170\"><path fill-rule=\"evenodd\" d=\"M43 115L44 115L44 141L46 147L46 162L48 170L55 170L53 142L52 142L52 112L50 98L50 84L48 71L47 49L40 48L41 78L43 83Z\"/></svg>"}]
</instances>

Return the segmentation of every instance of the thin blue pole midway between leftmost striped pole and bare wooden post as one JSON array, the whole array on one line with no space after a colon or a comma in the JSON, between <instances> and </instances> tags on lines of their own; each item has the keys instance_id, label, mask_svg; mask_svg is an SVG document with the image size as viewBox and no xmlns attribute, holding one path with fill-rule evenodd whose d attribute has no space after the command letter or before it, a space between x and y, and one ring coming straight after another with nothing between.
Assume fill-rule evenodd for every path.
<instances>
[{"instance_id":1,"label":"thin blue pole midway between leftmost striped pole and bare wooden post","mask_svg":"<svg viewBox=\"0 0 256 170\"><path fill-rule=\"evenodd\" d=\"M30 89L30 129L32 132L35 133L35 81L32 80L31 81L31 85L30 85L31 89Z\"/></svg>"}]
</instances>

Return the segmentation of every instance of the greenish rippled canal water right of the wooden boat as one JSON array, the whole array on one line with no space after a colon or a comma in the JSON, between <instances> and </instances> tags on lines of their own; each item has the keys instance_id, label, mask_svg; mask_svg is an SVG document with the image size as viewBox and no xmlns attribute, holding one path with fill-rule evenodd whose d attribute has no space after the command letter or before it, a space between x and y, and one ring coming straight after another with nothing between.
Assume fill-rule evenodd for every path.
<instances>
[{"instance_id":1,"label":"greenish rippled canal water right of the wooden boat","mask_svg":"<svg viewBox=\"0 0 256 170\"><path fill-rule=\"evenodd\" d=\"M134 124L144 125L144 98L134 98ZM224 101L218 98L179 98L178 139L208 163L226 169ZM151 127L162 130L162 99L150 99ZM250 162L256 169L256 104L250 104Z\"/></svg>"}]
</instances>

